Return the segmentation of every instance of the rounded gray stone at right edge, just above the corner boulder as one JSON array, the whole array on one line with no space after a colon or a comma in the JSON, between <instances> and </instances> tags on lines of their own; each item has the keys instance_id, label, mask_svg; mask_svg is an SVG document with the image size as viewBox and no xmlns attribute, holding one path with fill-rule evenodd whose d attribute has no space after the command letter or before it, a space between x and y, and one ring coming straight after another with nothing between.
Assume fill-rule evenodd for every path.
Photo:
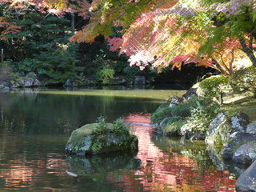
<instances>
[{"instance_id":1,"label":"rounded gray stone at right edge, just above the corner boulder","mask_svg":"<svg viewBox=\"0 0 256 192\"><path fill-rule=\"evenodd\" d=\"M247 142L238 147L233 154L234 162L248 164L256 160L256 142Z\"/></svg>"}]
</instances>

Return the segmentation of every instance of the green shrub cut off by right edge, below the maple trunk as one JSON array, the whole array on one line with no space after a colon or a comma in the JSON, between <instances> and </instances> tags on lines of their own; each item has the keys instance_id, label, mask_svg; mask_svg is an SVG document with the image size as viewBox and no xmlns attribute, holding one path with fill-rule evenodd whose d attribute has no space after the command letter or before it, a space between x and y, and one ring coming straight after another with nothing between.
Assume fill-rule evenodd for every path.
<instances>
[{"instance_id":1,"label":"green shrub cut off by right edge, below the maple trunk","mask_svg":"<svg viewBox=\"0 0 256 192\"><path fill-rule=\"evenodd\" d=\"M256 95L256 70L254 66L237 70L231 75L230 85L237 93L251 91Z\"/></svg>"}]
</instances>

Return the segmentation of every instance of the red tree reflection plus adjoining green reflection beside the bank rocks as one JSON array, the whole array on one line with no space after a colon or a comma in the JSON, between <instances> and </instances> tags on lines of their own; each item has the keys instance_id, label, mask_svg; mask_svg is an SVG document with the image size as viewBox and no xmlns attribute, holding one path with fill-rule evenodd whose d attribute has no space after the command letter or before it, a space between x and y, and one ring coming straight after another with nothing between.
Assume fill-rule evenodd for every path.
<instances>
[{"instance_id":1,"label":"red tree reflection plus adjoining green reflection beside the bank rocks","mask_svg":"<svg viewBox=\"0 0 256 192\"><path fill-rule=\"evenodd\" d=\"M128 122L149 122L149 116L130 115ZM151 142L152 127L133 126L138 136L139 151L137 158L142 160L141 169L135 177L143 188L153 191L234 191L234 181L223 171L216 171L215 166L207 161L206 147L188 142L161 141L169 143L160 150ZM167 139L168 138L164 138ZM158 142L158 141L157 141ZM179 143L179 145L178 145ZM178 150L175 147L178 146ZM180 153L182 150L182 153ZM195 158L196 157L196 158ZM209 158L208 158L209 160Z\"/></svg>"}]
</instances>

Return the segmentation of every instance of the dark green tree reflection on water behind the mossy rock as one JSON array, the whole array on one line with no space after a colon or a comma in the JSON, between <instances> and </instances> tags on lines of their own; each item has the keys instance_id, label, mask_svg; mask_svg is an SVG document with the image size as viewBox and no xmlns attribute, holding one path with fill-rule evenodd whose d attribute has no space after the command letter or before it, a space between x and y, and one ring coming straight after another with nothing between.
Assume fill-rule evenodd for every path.
<instances>
[{"instance_id":1,"label":"dark green tree reflection on water behind the mossy rock","mask_svg":"<svg viewBox=\"0 0 256 192\"><path fill-rule=\"evenodd\" d=\"M15 134L68 136L72 130L95 122L100 115L113 122L127 113L155 110L158 103L147 102L148 100L40 92L37 94L33 91L0 93L0 127L5 127L5 130Z\"/></svg>"}]
</instances>

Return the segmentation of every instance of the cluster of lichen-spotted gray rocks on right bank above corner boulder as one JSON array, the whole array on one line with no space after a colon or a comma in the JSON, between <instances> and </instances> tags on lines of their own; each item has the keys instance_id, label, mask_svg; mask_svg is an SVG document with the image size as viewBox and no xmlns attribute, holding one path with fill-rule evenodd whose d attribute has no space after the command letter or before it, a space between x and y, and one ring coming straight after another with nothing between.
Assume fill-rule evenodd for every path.
<instances>
[{"instance_id":1,"label":"cluster of lichen-spotted gray rocks on right bank above corner boulder","mask_svg":"<svg viewBox=\"0 0 256 192\"><path fill-rule=\"evenodd\" d=\"M256 160L256 123L246 114L218 114L210 122L206 143L220 147L222 158L249 164Z\"/></svg>"}]
</instances>

